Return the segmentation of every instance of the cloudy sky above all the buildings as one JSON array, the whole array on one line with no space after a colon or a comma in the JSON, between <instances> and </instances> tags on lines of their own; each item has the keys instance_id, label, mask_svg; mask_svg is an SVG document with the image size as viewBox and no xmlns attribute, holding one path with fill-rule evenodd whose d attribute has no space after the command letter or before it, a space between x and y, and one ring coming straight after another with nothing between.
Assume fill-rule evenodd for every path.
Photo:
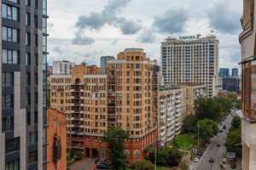
<instances>
[{"instance_id":1,"label":"cloudy sky above all the buildings","mask_svg":"<svg viewBox=\"0 0 256 170\"><path fill-rule=\"evenodd\" d=\"M48 0L49 65L54 60L99 65L125 48L143 48L160 64L160 42L173 37L219 40L219 68L241 60L242 0Z\"/></svg>"}]
</instances>

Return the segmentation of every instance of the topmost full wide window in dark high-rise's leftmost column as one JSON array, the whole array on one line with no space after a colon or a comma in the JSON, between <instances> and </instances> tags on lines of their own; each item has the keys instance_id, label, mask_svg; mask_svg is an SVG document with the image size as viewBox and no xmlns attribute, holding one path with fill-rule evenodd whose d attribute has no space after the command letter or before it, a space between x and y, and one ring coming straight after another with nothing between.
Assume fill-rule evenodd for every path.
<instances>
[{"instance_id":1,"label":"topmost full wide window in dark high-rise's leftmost column","mask_svg":"<svg viewBox=\"0 0 256 170\"><path fill-rule=\"evenodd\" d=\"M9 20L18 20L18 8L2 4L2 17Z\"/></svg>"}]
</instances>

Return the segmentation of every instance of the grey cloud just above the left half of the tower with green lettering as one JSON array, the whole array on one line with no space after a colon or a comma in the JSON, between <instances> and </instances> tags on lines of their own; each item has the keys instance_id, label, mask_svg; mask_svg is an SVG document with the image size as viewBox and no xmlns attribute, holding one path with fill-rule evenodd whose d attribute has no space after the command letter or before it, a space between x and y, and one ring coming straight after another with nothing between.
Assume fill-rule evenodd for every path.
<instances>
[{"instance_id":1,"label":"grey cloud just above the left half of the tower with green lettering","mask_svg":"<svg viewBox=\"0 0 256 170\"><path fill-rule=\"evenodd\" d=\"M161 33L182 32L188 19L189 14L185 8L172 8L163 16L154 17L153 26L156 26Z\"/></svg>"}]
</instances>

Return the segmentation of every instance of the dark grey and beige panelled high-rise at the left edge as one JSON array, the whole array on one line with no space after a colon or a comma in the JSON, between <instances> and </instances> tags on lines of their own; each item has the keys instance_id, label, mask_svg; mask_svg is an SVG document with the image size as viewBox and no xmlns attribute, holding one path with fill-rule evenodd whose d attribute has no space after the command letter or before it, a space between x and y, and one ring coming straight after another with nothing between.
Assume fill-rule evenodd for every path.
<instances>
[{"instance_id":1,"label":"dark grey and beige panelled high-rise at the left edge","mask_svg":"<svg viewBox=\"0 0 256 170\"><path fill-rule=\"evenodd\" d=\"M46 0L2 3L1 169L46 168Z\"/></svg>"}]
</instances>

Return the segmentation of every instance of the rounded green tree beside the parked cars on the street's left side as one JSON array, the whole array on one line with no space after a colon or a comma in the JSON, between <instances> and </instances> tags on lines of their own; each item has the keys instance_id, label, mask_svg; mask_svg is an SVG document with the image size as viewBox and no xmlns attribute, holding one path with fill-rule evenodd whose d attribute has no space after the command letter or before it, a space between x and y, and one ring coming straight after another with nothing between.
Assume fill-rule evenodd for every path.
<instances>
[{"instance_id":1,"label":"rounded green tree beside the parked cars on the street's left side","mask_svg":"<svg viewBox=\"0 0 256 170\"><path fill-rule=\"evenodd\" d=\"M200 138L206 142L218 133L218 123L210 119L198 121Z\"/></svg>"}]
</instances>

